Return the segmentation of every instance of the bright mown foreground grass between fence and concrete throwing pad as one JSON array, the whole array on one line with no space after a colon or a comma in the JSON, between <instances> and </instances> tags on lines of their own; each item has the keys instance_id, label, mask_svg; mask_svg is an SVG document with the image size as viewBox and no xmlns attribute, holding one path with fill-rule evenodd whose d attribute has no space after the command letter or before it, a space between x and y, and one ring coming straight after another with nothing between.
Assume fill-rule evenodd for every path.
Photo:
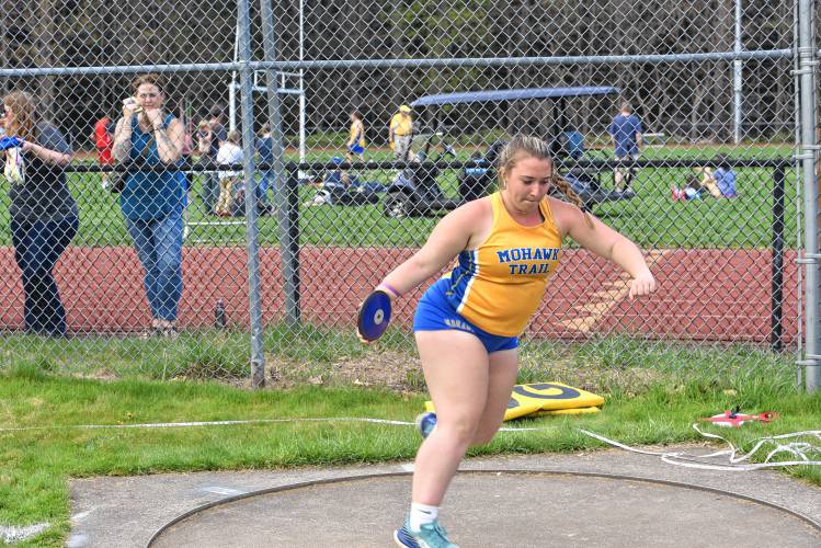
<instances>
[{"instance_id":1,"label":"bright mown foreground grass between fence and concrete throwing pad","mask_svg":"<svg viewBox=\"0 0 821 548\"><path fill-rule=\"evenodd\" d=\"M392 461L411 459L419 444L410 427L345 422L71 429L67 426L266 418L411 420L424 396L346 386L249 391L215 383L139 378L101 381L56 375L52 373L55 365L47 366L47 359L15 363L0 374L0 427L46 429L0 431L0 524L52 524L47 532L20 546L62 546L69 532L70 477ZM532 380L527 372L533 373L525 367L520 380ZM500 434L492 444L471 454L571 452L602 446L581 434L579 427L627 444L697 439L698 434L689 426L694 419L731 404L782 413L782 419L768 426L721 431L736 443L818 429L821 392L799 393L775 381L776 377L736 376L723 381L691 377L681 383L663 376L631 389L616 387L605 392L607 403L597 415L525 421L524 425L548 429ZM821 484L821 470L803 467L788 473Z\"/></svg>"}]
</instances>

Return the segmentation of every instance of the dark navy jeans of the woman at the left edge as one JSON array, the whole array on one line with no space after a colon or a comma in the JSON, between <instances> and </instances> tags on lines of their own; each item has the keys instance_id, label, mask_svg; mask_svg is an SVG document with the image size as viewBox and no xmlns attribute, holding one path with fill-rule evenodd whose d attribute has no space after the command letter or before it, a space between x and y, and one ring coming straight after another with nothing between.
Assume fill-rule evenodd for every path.
<instances>
[{"instance_id":1,"label":"dark navy jeans of the woman at the left edge","mask_svg":"<svg viewBox=\"0 0 821 548\"><path fill-rule=\"evenodd\" d=\"M66 334L66 309L52 271L71 243L78 225L75 216L62 220L11 219L14 259L23 277L23 319L27 331L53 336Z\"/></svg>"}]
</instances>

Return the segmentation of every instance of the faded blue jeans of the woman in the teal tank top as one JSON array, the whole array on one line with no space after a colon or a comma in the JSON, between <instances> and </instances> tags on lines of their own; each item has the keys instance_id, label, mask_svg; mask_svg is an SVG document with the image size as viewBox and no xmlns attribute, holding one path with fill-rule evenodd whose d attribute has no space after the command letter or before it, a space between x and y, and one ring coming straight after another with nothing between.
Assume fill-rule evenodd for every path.
<instances>
[{"instance_id":1,"label":"faded blue jeans of the woman in the teal tank top","mask_svg":"<svg viewBox=\"0 0 821 548\"><path fill-rule=\"evenodd\" d=\"M182 297L182 212L159 219L125 219L142 264L151 317L176 320Z\"/></svg>"}]
</instances>

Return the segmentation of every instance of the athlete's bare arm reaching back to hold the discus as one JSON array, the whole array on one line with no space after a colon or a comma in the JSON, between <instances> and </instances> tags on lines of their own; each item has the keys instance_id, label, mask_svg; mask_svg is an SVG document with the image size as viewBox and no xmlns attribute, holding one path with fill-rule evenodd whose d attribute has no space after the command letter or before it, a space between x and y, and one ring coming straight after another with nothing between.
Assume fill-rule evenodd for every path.
<instances>
[{"instance_id":1,"label":"athlete's bare arm reaching back to hold the discus","mask_svg":"<svg viewBox=\"0 0 821 548\"><path fill-rule=\"evenodd\" d=\"M481 209L476 204L467 204L451 212L436 225L422 249L385 276L383 283L400 295L413 289L441 272L465 249L480 221Z\"/></svg>"}]
</instances>

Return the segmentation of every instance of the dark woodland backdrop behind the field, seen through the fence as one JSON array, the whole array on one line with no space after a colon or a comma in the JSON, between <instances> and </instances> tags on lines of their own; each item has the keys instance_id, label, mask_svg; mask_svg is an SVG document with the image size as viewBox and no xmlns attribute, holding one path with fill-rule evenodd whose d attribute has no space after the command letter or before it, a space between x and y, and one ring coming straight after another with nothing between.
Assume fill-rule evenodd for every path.
<instances>
[{"instance_id":1,"label":"dark woodland backdrop behind the field, seen through the fence","mask_svg":"<svg viewBox=\"0 0 821 548\"><path fill-rule=\"evenodd\" d=\"M299 0L275 2L277 58L299 58ZM318 59L436 59L686 54L732 50L734 0L304 0L304 57ZM221 62L235 50L236 3L192 0L2 0L8 68L112 67ZM793 42L793 4L743 3L744 49L784 49ZM259 5L252 2L252 52L263 58ZM744 118L754 138L793 124L788 60L744 64ZM775 75L775 77L774 77ZM171 75L172 109L194 117L228 102L229 75ZM7 78L5 90L35 92L47 114L79 144L93 119L116 112L129 75ZM290 82L294 83L293 81ZM347 111L363 111L369 140L399 104L427 93L543 85L617 85L653 132L687 140L726 140L732 127L732 67L689 64L509 65L446 68L313 69L306 72L309 132L339 129ZM286 133L296 133L297 101L283 99ZM258 98L258 118L265 116ZM612 102L579 101L571 117L601 130ZM447 122L467 129L515 125L546 116L541 105L487 106L453 112ZM261 122L260 122L261 123Z\"/></svg>"}]
</instances>

